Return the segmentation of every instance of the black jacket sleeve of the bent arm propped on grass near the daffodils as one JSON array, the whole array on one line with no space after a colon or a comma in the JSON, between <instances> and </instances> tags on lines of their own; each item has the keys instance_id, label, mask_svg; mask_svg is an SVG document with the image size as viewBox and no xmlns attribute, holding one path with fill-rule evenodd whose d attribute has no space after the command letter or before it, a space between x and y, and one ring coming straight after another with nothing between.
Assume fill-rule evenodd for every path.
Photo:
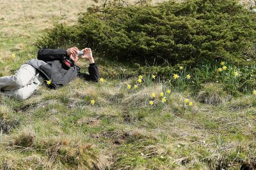
<instances>
[{"instance_id":1,"label":"black jacket sleeve of the bent arm propped on grass near the daffodils","mask_svg":"<svg viewBox=\"0 0 256 170\"><path fill-rule=\"evenodd\" d=\"M89 74L79 73L78 76L83 78L86 81L95 81L98 82L100 78L100 73L97 64L92 63L88 67Z\"/></svg>"}]
</instances>

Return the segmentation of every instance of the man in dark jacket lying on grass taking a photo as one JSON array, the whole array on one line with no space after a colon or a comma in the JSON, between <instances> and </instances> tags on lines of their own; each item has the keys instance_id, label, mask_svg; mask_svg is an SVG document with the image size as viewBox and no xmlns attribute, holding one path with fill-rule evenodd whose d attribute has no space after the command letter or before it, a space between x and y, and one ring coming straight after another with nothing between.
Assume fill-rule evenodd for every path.
<instances>
[{"instance_id":1,"label":"man in dark jacket lying on grass taking a photo","mask_svg":"<svg viewBox=\"0 0 256 170\"><path fill-rule=\"evenodd\" d=\"M79 57L88 59L89 74L79 73L80 68L76 66ZM99 80L99 70L94 63L90 48L84 48L81 52L76 47L67 50L42 48L38 51L37 59L23 64L17 73L0 77L0 90L7 96L24 100L31 96L42 83L51 89L58 89L76 76L86 81Z\"/></svg>"}]
</instances>

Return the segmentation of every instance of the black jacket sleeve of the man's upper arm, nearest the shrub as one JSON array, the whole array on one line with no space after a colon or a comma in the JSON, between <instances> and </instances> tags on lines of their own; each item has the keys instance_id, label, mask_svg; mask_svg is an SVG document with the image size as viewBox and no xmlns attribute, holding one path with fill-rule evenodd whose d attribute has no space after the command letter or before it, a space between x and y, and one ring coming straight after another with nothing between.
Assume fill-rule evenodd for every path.
<instances>
[{"instance_id":1,"label":"black jacket sleeve of the man's upper arm, nearest the shrub","mask_svg":"<svg viewBox=\"0 0 256 170\"><path fill-rule=\"evenodd\" d=\"M63 60L67 57L67 51L65 49L50 49L41 48L37 53L38 60L44 60L45 62L52 60Z\"/></svg>"}]
</instances>

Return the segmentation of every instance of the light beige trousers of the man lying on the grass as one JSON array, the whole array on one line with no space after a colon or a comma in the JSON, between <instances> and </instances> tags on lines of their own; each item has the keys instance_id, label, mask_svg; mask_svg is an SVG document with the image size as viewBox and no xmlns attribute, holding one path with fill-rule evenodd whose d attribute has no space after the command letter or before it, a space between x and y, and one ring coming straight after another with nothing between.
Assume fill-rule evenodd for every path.
<instances>
[{"instance_id":1,"label":"light beige trousers of the man lying on the grass","mask_svg":"<svg viewBox=\"0 0 256 170\"><path fill-rule=\"evenodd\" d=\"M29 64L23 64L12 76L0 77L1 93L19 100L27 99L44 82L42 76Z\"/></svg>"}]
</instances>

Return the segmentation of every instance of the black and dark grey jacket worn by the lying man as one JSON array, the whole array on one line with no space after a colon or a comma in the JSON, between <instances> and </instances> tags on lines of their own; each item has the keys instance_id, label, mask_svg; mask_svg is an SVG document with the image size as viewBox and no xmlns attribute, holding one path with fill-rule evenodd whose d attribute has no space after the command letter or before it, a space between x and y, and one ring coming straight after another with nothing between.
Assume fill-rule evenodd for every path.
<instances>
[{"instance_id":1,"label":"black and dark grey jacket worn by the lying man","mask_svg":"<svg viewBox=\"0 0 256 170\"><path fill-rule=\"evenodd\" d=\"M89 74L80 73L80 68L74 66L73 63L70 63L70 67L67 66L65 60L69 59L69 56L65 49L41 48L38 51L37 59L37 63L40 62L40 64L35 64L35 60L28 62L28 64L31 64L40 72L45 82L48 82L47 86L51 89L58 89L60 85L66 85L76 76L87 81L99 80L99 70L95 63L90 64ZM42 61L45 64L41 64Z\"/></svg>"}]
</instances>

